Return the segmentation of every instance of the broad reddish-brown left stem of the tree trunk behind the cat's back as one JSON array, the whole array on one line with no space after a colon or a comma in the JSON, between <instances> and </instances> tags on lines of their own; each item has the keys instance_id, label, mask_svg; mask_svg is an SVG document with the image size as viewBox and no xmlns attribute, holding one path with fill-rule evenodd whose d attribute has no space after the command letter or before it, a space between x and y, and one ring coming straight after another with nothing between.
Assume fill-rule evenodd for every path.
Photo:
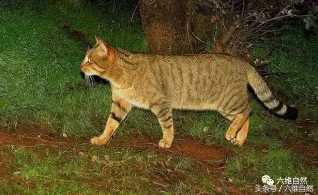
<instances>
[{"instance_id":1,"label":"broad reddish-brown left stem of the tree trunk behind the cat's back","mask_svg":"<svg viewBox=\"0 0 318 195\"><path fill-rule=\"evenodd\" d=\"M150 53L189 53L186 1L139 0L139 5Z\"/></svg>"}]
</instances>

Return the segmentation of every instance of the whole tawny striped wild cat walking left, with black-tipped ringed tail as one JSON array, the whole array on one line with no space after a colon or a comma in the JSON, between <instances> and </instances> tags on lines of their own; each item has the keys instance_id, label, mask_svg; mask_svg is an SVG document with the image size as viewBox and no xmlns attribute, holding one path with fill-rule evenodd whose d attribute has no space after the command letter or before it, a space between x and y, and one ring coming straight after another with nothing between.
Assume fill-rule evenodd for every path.
<instances>
[{"instance_id":1,"label":"whole tawny striped wild cat walking left, with black-tipped ringed tail","mask_svg":"<svg viewBox=\"0 0 318 195\"><path fill-rule=\"evenodd\" d=\"M248 90L274 114L296 119L298 110L281 103L248 63L222 54L155 55L114 48L95 36L81 71L110 82L111 111L104 132L90 140L105 144L133 106L150 109L158 118L163 137L160 147L173 141L172 109L217 110L232 121L226 139L242 145L248 133Z\"/></svg>"}]
</instances>

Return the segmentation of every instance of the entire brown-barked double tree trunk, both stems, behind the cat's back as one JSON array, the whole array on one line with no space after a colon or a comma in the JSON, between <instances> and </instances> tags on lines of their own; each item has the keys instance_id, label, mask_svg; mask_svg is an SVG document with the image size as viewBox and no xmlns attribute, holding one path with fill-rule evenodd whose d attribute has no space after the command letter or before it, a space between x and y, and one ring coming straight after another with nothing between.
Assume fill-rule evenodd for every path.
<instances>
[{"instance_id":1,"label":"entire brown-barked double tree trunk, both stems, behind the cat's back","mask_svg":"<svg viewBox=\"0 0 318 195\"><path fill-rule=\"evenodd\" d=\"M236 25L220 18L216 7L198 0L139 0L150 53L228 53Z\"/></svg>"}]
</instances>

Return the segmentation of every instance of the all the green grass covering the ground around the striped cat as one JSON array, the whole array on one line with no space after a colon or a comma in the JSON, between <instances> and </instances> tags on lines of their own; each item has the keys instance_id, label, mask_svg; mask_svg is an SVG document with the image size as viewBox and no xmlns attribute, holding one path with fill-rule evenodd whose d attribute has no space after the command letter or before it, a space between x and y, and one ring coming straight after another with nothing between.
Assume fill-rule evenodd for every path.
<instances>
[{"instance_id":1,"label":"all the green grass covering the ground around the striped cat","mask_svg":"<svg viewBox=\"0 0 318 195\"><path fill-rule=\"evenodd\" d=\"M84 85L79 64L85 51L81 43L70 39L60 27L66 23L85 29L91 43L94 43L94 34L98 34L113 46L147 51L140 23L129 23L133 9L120 7L119 10L110 16L105 14L104 8L81 1L29 1L0 7L0 126L49 123L61 134L98 135L109 114L110 88L70 87ZM305 37L301 28L295 27L287 29L275 42L279 43L275 45L279 50L274 50L268 58L269 68L284 74L269 76L268 82L286 95L283 97L286 103L300 105L301 119L317 118L317 37ZM256 48L255 54L261 53L266 44ZM198 162L191 158L173 157L166 164L169 157L154 152L84 146L81 148L84 155L77 150L64 152L59 148L48 150L43 157L37 151L14 147L1 149L0 155L12 156L11 174L20 172L12 175L13 180L33 185L23 186L3 179L0 180L0 194L143 195L146 192L185 195L197 194L200 189L215 194L215 180L227 186L231 179L241 188L253 190L252 184L261 184L262 175L272 178L306 176L310 184L318 184L317 169L284 147L285 141L306 140L307 135L297 130L293 122L267 114L261 116L264 108L257 101L251 100L251 105L249 144L243 147L233 146L224 139L230 122L220 114L173 113L176 134L203 139L208 145L233 151L232 157L224 159L224 174L211 176L197 171L193 167L197 167ZM156 117L150 111L137 108L129 113L116 134L132 132L161 134ZM317 135L317 132L315 128L313 133ZM92 155L97 155L102 163L91 162ZM185 178L162 190L152 182L160 175L156 171L164 172L165 166L179 173L172 175L172 179L177 175L185 175Z\"/></svg>"}]
</instances>

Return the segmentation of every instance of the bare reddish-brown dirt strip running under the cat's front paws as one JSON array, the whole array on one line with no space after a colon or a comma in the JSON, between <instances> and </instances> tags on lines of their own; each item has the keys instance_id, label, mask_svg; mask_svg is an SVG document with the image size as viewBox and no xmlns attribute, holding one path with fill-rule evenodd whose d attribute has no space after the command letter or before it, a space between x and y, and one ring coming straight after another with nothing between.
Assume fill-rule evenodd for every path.
<instances>
[{"instance_id":1,"label":"bare reddish-brown dirt strip running under the cat's front paws","mask_svg":"<svg viewBox=\"0 0 318 195\"><path fill-rule=\"evenodd\" d=\"M89 144L90 135L87 135L87 138L63 137L57 133L50 133L47 128L48 127L44 125L32 123L19 126L14 130L0 129L0 147L21 146L25 148L35 148L39 146L61 146L74 148L76 145ZM159 139L160 136L140 135L136 133L120 135L111 138L106 144L106 147L122 147L146 151L153 150L155 152L216 162L222 160L224 157L232 155L229 149L209 147L206 146L202 140L179 136L175 136L173 147L170 149L163 149L159 148L157 145Z\"/></svg>"}]
</instances>

